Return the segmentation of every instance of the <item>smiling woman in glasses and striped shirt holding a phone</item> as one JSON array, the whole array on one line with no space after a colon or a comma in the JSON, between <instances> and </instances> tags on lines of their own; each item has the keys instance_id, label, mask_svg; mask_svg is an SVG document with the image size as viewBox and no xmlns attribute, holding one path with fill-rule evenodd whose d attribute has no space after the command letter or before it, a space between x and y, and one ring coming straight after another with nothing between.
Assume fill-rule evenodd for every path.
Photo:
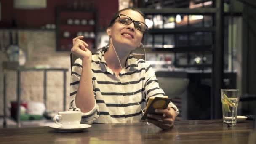
<instances>
[{"instance_id":1,"label":"smiling woman in glasses and striped shirt holding a phone","mask_svg":"<svg viewBox=\"0 0 256 144\"><path fill-rule=\"evenodd\" d=\"M126 8L110 21L109 46L99 53L87 49L83 36L73 39L71 52L80 59L72 67L70 110L82 112L82 123L139 122L147 99L165 95L152 67L130 54L141 45L146 29L144 15ZM157 113L163 116L149 115L147 121L168 129L179 111L170 103Z\"/></svg>"}]
</instances>

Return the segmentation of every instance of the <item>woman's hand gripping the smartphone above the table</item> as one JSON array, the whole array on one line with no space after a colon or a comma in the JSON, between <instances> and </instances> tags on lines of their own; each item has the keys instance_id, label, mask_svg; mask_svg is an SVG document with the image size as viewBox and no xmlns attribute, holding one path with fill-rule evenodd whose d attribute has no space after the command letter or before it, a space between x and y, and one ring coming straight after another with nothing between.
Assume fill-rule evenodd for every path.
<instances>
[{"instance_id":1,"label":"woman's hand gripping the smartphone above the table","mask_svg":"<svg viewBox=\"0 0 256 144\"><path fill-rule=\"evenodd\" d=\"M146 119L146 121L153 123L164 130L170 129L173 126L176 118L176 112L173 108L167 107L166 109L156 109L155 112L162 115L147 114L149 119Z\"/></svg>"}]
</instances>

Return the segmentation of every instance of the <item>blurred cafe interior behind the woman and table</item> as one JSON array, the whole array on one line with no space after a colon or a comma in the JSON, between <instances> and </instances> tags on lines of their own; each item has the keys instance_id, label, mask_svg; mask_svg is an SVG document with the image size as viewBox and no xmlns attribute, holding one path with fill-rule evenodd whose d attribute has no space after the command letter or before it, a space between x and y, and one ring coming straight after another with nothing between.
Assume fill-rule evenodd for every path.
<instances>
[{"instance_id":1,"label":"blurred cafe interior behind the woman and table","mask_svg":"<svg viewBox=\"0 0 256 144\"><path fill-rule=\"evenodd\" d=\"M17 99L17 67L11 63L15 60L19 61L20 69L33 69L20 73L19 94L24 107L38 104L35 107L48 114L68 109L72 38L84 35L91 51L96 51L108 41L105 28L112 15L133 6L146 14L149 26L143 42L146 58L166 95L181 110L178 120L220 118L216 112L221 107L218 88L240 89L239 115L255 115L253 13L256 10L248 5L255 2L224 0L224 13L211 11L216 3L212 0L0 0L0 115L4 115L4 92L8 117L11 117L11 102ZM197 8L205 11L189 12ZM215 16L222 16L223 23ZM218 39L219 34L223 37ZM138 48L135 53L144 52ZM67 71L48 71L45 75L44 70L52 68ZM214 99L217 95L219 102ZM26 125L26 120L22 123ZM8 120L8 125L12 124L15 122Z\"/></svg>"}]
</instances>

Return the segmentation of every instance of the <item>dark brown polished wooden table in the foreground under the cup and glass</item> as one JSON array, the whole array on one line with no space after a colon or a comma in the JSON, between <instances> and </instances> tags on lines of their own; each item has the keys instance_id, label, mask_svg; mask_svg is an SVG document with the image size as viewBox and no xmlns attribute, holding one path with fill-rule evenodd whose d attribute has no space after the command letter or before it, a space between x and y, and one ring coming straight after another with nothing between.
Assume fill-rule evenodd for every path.
<instances>
[{"instance_id":1,"label":"dark brown polished wooden table in the foreground under the cup and glass","mask_svg":"<svg viewBox=\"0 0 256 144\"><path fill-rule=\"evenodd\" d=\"M50 127L1 128L0 144L247 144L253 121L227 128L222 120L177 121L168 131L147 123L95 124L80 133Z\"/></svg>"}]
</instances>

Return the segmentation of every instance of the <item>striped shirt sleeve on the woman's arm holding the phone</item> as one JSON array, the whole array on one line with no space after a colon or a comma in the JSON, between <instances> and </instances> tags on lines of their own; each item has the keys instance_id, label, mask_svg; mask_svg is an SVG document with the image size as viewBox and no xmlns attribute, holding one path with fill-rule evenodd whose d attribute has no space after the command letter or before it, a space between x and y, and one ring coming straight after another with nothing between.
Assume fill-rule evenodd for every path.
<instances>
[{"instance_id":1,"label":"striped shirt sleeve on the woman's arm holding the phone","mask_svg":"<svg viewBox=\"0 0 256 144\"><path fill-rule=\"evenodd\" d=\"M155 71L152 69L151 65L146 64L146 83L145 83L145 93L147 99L152 96L165 96L162 88L159 87L158 80L155 76ZM175 104L170 102L169 107L172 107L176 111L176 116L179 114L179 109Z\"/></svg>"}]
</instances>

